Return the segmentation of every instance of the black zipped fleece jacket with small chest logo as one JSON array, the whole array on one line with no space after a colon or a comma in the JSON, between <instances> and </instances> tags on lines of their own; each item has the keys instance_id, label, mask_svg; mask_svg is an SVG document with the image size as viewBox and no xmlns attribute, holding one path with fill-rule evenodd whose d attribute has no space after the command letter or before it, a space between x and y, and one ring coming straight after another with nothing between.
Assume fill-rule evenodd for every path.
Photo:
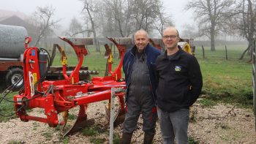
<instances>
[{"instance_id":1,"label":"black zipped fleece jacket with small chest logo","mask_svg":"<svg viewBox=\"0 0 256 144\"><path fill-rule=\"evenodd\" d=\"M201 93L203 79L197 59L181 48L170 60L166 51L158 56L156 75L157 106L164 111L189 109Z\"/></svg>"}]
</instances>

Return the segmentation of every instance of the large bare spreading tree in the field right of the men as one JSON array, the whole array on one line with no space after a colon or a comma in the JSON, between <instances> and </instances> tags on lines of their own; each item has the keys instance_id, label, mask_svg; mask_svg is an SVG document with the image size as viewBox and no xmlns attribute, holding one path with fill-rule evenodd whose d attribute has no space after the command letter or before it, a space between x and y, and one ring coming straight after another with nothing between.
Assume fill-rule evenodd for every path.
<instances>
[{"instance_id":1,"label":"large bare spreading tree in the field right of the men","mask_svg":"<svg viewBox=\"0 0 256 144\"><path fill-rule=\"evenodd\" d=\"M200 36L211 39L211 50L215 50L215 36L223 30L226 16L233 0L191 0L187 4L187 10L195 10L195 18L199 23Z\"/></svg>"}]
</instances>

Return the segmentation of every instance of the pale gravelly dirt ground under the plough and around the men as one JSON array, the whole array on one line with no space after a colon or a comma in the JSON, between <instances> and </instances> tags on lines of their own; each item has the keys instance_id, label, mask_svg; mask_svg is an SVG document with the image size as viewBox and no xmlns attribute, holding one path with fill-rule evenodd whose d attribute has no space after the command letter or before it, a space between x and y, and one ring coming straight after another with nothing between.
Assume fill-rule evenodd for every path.
<instances>
[{"instance_id":1,"label":"pale gravelly dirt ground under the plough and around the men","mask_svg":"<svg viewBox=\"0 0 256 144\"><path fill-rule=\"evenodd\" d=\"M0 123L0 143L91 143L95 139L108 143L108 124L104 116L105 102L89 105L89 118L94 118L96 124L105 127L106 132L94 136L85 136L78 132L69 137L61 137L61 131L50 128L48 124L36 121L22 122L18 118L6 123ZM232 105L216 105L212 108L195 104L191 108L189 135L200 143L256 143L255 119L252 110L241 109ZM39 115L42 110L34 110L33 115ZM138 130L132 137L132 143L143 142L141 118ZM121 135L121 126L115 130ZM157 122L157 134L154 143L162 143Z\"/></svg>"}]
</instances>

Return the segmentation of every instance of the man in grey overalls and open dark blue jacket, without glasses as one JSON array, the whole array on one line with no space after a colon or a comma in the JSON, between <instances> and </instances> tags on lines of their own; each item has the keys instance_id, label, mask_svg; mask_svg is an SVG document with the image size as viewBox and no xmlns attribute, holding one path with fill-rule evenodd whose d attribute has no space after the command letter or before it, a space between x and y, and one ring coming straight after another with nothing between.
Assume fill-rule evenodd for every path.
<instances>
[{"instance_id":1,"label":"man in grey overalls and open dark blue jacket, without glasses","mask_svg":"<svg viewBox=\"0 0 256 144\"><path fill-rule=\"evenodd\" d=\"M157 109L155 104L156 79L155 61L161 53L148 44L148 33L144 30L135 32L135 46L127 50L123 69L127 84L127 113L121 143L130 143L132 133L137 127L140 113L143 115L145 144L154 139Z\"/></svg>"}]
</instances>

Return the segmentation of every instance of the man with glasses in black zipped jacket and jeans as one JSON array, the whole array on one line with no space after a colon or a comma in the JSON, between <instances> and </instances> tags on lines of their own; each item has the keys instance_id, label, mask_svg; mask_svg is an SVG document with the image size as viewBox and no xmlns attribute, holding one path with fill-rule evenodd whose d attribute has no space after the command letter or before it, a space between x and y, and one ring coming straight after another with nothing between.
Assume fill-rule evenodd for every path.
<instances>
[{"instance_id":1,"label":"man with glasses in black zipped jacket and jeans","mask_svg":"<svg viewBox=\"0 0 256 144\"><path fill-rule=\"evenodd\" d=\"M162 41L166 51L156 61L157 113L164 144L188 143L189 107L200 95L202 74L195 56L181 50L179 35L174 27L167 27Z\"/></svg>"}]
</instances>

